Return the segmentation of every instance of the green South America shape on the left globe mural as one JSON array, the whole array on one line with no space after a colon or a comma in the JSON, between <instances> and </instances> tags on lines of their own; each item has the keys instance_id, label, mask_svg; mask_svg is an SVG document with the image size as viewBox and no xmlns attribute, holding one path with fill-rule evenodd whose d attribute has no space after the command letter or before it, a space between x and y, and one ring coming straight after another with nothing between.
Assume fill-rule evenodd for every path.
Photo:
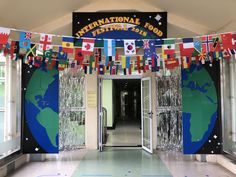
<instances>
[{"instance_id":1,"label":"green South America shape on the left globe mural","mask_svg":"<svg viewBox=\"0 0 236 177\"><path fill-rule=\"evenodd\" d=\"M51 108L45 108L37 115L37 120L46 129L50 142L57 147L58 114Z\"/></svg>"}]
</instances>

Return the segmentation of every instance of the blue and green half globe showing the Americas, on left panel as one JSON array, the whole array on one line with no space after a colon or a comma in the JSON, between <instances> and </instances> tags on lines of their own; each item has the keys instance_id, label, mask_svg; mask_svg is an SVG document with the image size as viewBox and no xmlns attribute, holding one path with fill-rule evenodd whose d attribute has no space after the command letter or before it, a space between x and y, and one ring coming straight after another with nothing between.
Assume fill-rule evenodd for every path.
<instances>
[{"instance_id":1,"label":"blue and green half globe showing the Americas, on left panel","mask_svg":"<svg viewBox=\"0 0 236 177\"><path fill-rule=\"evenodd\" d=\"M56 69L38 68L25 92L26 124L38 145L48 153L58 152L58 78ZM35 147L35 151L40 147Z\"/></svg>"}]
</instances>

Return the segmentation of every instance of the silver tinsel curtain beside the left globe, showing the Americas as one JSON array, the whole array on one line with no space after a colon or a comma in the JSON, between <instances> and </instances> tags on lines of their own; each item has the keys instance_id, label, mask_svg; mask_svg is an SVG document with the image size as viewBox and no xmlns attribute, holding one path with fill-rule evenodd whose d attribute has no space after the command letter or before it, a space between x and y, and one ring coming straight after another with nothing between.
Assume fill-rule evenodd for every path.
<instances>
[{"instance_id":1,"label":"silver tinsel curtain beside the left globe, showing the Americas","mask_svg":"<svg viewBox=\"0 0 236 177\"><path fill-rule=\"evenodd\" d=\"M85 145L84 75L66 69L60 72L59 148L74 150Z\"/></svg>"}]
</instances>

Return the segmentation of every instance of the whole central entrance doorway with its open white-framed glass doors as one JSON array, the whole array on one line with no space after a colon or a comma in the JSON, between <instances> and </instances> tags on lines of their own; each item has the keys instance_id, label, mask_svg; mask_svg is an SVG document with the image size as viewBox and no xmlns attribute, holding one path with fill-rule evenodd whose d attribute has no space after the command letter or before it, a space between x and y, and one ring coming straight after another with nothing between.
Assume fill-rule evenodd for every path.
<instances>
[{"instance_id":1,"label":"whole central entrance doorway with its open white-framed glass doors","mask_svg":"<svg viewBox=\"0 0 236 177\"><path fill-rule=\"evenodd\" d=\"M98 148L152 147L151 78L99 78Z\"/></svg>"}]
</instances>

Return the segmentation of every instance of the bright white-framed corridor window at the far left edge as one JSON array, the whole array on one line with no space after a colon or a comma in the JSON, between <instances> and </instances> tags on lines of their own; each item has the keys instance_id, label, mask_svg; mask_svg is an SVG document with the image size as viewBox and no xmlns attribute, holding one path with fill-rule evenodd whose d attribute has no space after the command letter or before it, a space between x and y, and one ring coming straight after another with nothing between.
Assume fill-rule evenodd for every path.
<instances>
[{"instance_id":1,"label":"bright white-framed corridor window at the far left edge","mask_svg":"<svg viewBox=\"0 0 236 177\"><path fill-rule=\"evenodd\" d=\"M21 61L0 54L0 159L20 150Z\"/></svg>"}]
</instances>

